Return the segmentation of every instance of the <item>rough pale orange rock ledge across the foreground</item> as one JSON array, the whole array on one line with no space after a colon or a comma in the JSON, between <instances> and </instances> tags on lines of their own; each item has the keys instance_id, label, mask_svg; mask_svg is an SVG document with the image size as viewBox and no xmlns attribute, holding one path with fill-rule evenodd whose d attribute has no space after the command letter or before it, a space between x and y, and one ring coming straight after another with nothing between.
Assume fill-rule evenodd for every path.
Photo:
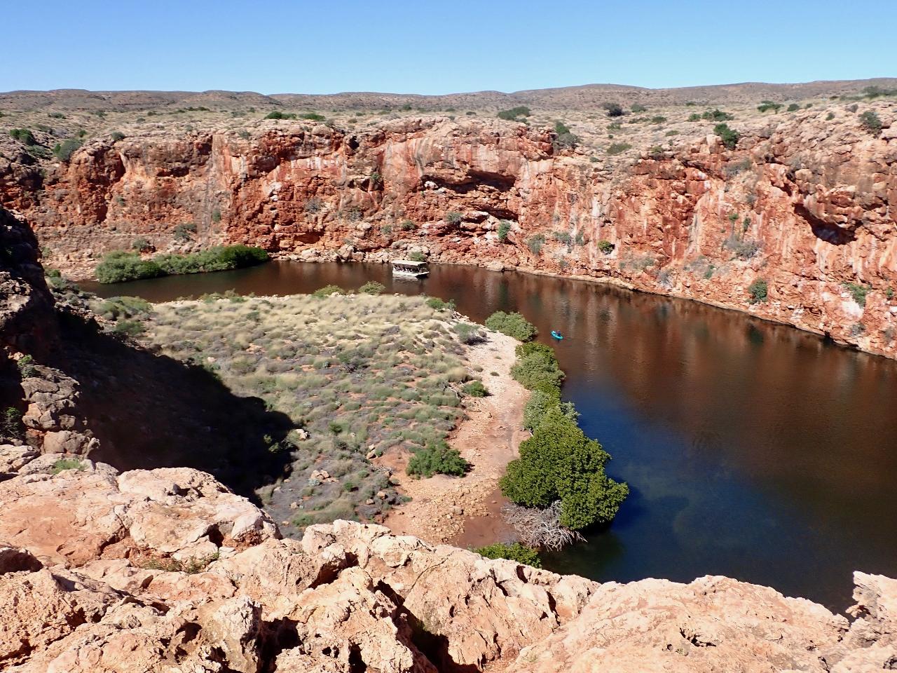
<instances>
[{"instance_id":1,"label":"rough pale orange rock ledge across the foreground","mask_svg":"<svg viewBox=\"0 0 897 673\"><path fill-rule=\"evenodd\" d=\"M852 623L724 577L598 584L348 521L280 539L187 468L84 461L0 483L0 668L78 671L882 670L897 581Z\"/></svg>"}]
</instances>

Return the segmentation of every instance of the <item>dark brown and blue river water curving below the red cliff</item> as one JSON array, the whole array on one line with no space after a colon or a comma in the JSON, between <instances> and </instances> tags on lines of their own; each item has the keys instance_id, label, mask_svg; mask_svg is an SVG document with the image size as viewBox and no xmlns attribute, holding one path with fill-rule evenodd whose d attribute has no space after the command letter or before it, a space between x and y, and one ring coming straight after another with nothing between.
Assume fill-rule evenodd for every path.
<instances>
[{"instance_id":1,"label":"dark brown and blue river water curving below the red cliff","mask_svg":"<svg viewBox=\"0 0 897 673\"><path fill-rule=\"evenodd\" d=\"M725 574L829 607L850 572L897 575L897 363L745 315L578 281L440 266L274 263L85 289L151 301L379 280L482 321L520 310L557 344L585 431L631 497L613 527L549 555L596 580Z\"/></svg>"}]
</instances>

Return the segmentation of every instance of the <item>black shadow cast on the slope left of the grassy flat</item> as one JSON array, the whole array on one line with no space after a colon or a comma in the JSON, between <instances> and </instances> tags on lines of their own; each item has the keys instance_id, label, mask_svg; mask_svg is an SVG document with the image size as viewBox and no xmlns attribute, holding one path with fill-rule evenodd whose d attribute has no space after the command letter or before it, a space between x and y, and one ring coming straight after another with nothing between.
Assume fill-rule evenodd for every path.
<instances>
[{"instance_id":1,"label":"black shadow cast on the slope left of the grassy flat","mask_svg":"<svg viewBox=\"0 0 897 673\"><path fill-rule=\"evenodd\" d=\"M80 406L100 440L91 459L121 470L201 469L254 500L255 489L288 469L289 416L77 315L62 311L59 321L63 345L53 366L81 382Z\"/></svg>"}]
</instances>

